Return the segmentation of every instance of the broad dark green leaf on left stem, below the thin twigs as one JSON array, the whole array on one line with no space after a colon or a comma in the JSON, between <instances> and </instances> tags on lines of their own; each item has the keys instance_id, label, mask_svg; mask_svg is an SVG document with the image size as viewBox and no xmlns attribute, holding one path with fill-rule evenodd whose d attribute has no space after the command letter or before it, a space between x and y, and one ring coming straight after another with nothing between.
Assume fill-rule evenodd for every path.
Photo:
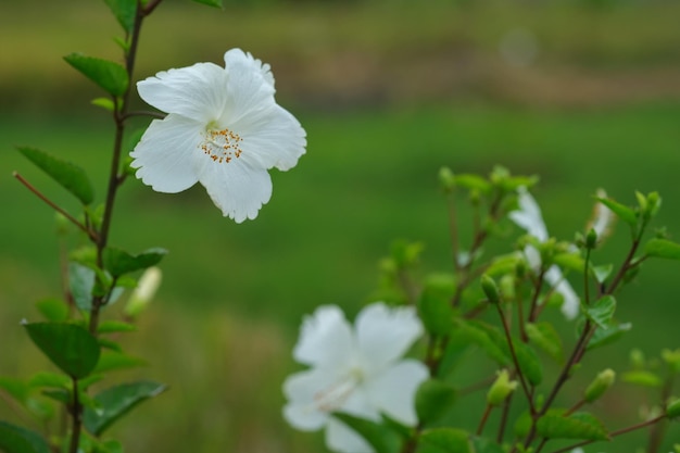
<instances>
[{"instance_id":1,"label":"broad dark green leaf on left stem, below the thin twigs","mask_svg":"<svg viewBox=\"0 0 680 453\"><path fill-rule=\"evenodd\" d=\"M99 361L99 343L86 329L66 323L32 323L24 327L33 342L71 377L89 375Z\"/></svg>"}]
</instances>

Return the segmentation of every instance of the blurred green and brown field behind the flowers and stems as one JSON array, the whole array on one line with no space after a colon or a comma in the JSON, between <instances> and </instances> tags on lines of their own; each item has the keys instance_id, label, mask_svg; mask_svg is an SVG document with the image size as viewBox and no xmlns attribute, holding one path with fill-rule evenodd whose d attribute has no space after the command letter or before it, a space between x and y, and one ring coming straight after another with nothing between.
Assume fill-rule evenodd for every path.
<instances>
[{"instance_id":1,"label":"blurred green and brown field behind the flowers and stems","mask_svg":"<svg viewBox=\"0 0 680 453\"><path fill-rule=\"evenodd\" d=\"M436 179L442 165L538 174L549 229L565 239L583 228L596 188L626 203L634 190L658 190L658 225L678 239L678 2L225 3L218 11L166 0L142 32L138 78L248 50L272 64L279 103L307 131L307 154L292 171L273 172L272 201L242 225L222 218L200 186L177 196L137 180L124 186L112 242L171 251L152 310L125 340L150 366L119 376L158 379L171 391L111 430L128 452L323 451L320 435L294 432L280 416L280 383L299 369L290 353L300 320L325 303L353 316L370 301L378 261L394 239L425 242L424 272L449 270ZM100 93L62 55L117 60L116 35L99 1L0 7L0 375L46 366L20 320L36 319L34 302L60 288L54 215L11 172L77 207L13 148L39 147L103 181L112 124L88 104ZM97 188L101 197L104 184ZM620 260L627 239L619 229L601 261ZM633 344L650 355L680 347L679 272L645 263L620 298L618 317L632 320L633 331L620 347L593 353L588 369L610 361L622 369ZM614 417L612 428L635 420L632 394L621 385L599 405ZM475 426L482 406L463 407L461 418ZM1 400L0 418L22 421Z\"/></svg>"}]
</instances>

